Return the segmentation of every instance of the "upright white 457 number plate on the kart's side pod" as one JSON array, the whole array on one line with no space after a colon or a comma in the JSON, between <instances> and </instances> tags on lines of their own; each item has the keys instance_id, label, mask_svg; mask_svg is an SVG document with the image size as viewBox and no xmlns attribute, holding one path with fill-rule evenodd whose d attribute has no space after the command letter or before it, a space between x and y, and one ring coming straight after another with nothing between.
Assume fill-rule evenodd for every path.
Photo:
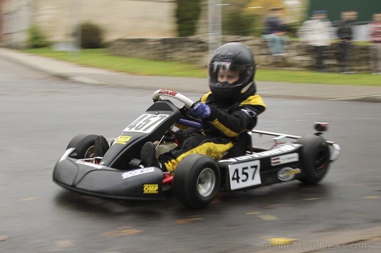
<instances>
[{"instance_id":1,"label":"upright white 457 number plate on the kart's side pod","mask_svg":"<svg viewBox=\"0 0 381 253\"><path fill-rule=\"evenodd\" d=\"M259 160L229 165L230 189L235 190L261 184L260 169Z\"/></svg>"}]
</instances>

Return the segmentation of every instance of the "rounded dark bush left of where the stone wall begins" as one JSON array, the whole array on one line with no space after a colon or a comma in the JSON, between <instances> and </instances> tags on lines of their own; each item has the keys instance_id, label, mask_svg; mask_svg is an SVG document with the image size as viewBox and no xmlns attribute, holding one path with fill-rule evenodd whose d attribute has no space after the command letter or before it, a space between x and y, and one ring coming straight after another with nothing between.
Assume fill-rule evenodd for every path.
<instances>
[{"instance_id":1,"label":"rounded dark bush left of where the stone wall begins","mask_svg":"<svg viewBox=\"0 0 381 253\"><path fill-rule=\"evenodd\" d=\"M102 48L103 33L99 26L85 22L80 25L81 28L81 48ZM78 36L79 26L73 33L74 37Z\"/></svg>"}]
</instances>

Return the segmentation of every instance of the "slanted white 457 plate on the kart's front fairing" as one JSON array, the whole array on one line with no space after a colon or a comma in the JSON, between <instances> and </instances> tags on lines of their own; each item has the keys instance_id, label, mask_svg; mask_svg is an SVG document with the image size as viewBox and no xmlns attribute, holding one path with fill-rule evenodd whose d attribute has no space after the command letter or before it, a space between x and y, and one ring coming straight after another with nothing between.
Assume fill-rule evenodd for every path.
<instances>
[{"instance_id":1,"label":"slanted white 457 plate on the kart's front fairing","mask_svg":"<svg viewBox=\"0 0 381 253\"><path fill-rule=\"evenodd\" d=\"M168 118L168 116L169 114L142 114L123 131L149 133L157 128L166 118Z\"/></svg>"}]
</instances>

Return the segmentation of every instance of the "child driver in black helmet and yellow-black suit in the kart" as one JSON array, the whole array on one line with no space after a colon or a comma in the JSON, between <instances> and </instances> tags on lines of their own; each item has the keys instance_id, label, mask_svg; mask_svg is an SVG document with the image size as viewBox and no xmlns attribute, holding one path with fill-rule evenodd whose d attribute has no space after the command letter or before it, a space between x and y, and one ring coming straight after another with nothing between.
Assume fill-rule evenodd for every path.
<instances>
[{"instance_id":1,"label":"child driver in black helmet and yellow-black suit in the kart","mask_svg":"<svg viewBox=\"0 0 381 253\"><path fill-rule=\"evenodd\" d=\"M174 171L184 157L193 153L209 155L218 161L238 146L234 155L245 154L250 138L247 132L255 127L257 115L266 108L261 96L256 94L254 74L254 56L245 45L228 43L216 49L209 63L211 91L188 111L190 116L201 119L205 127L176 131L179 146L158 159L155 145L145 143L141 150L143 164Z\"/></svg>"}]
</instances>

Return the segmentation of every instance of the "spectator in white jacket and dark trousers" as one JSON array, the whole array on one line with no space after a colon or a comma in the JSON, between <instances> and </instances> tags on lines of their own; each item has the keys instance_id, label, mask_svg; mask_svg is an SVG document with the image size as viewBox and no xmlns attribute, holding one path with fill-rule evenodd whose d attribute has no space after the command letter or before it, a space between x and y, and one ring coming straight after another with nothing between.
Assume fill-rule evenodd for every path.
<instances>
[{"instance_id":1,"label":"spectator in white jacket and dark trousers","mask_svg":"<svg viewBox=\"0 0 381 253\"><path fill-rule=\"evenodd\" d=\"M303 23L299 30L299 36L307 45L314 48L315 66L318 72L327 72L324 68L324 51L326 46L331 45L332 23L327 20L327 12L314 11L310 20Z\"/></svg>"}]
</instances>

